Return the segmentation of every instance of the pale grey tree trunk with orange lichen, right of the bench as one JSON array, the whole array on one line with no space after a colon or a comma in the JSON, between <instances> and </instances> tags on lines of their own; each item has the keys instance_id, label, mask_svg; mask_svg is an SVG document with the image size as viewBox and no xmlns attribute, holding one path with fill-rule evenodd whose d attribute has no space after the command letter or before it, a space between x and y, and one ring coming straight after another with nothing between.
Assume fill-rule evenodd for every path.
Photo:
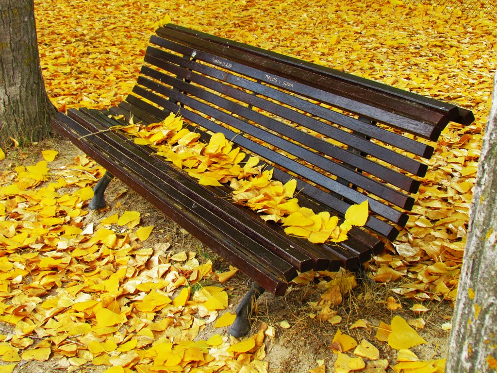
<instances>
[{"instance_id":1,"label":"pale grey tree trunk with orange lichen, right of the bench","mask_svg":"<svg viewBox=\"0 0 497 373\"><path fill-rule=\"evenodd\" d=\"M452 318L447 373L497 370L497 74Z\"/></svg>"}]
</instances>

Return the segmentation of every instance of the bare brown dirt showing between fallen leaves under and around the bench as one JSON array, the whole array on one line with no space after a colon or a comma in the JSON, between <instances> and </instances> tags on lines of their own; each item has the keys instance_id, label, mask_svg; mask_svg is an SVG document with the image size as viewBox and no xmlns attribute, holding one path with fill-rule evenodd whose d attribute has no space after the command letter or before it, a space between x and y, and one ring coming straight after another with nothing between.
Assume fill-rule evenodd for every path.
<instances>
[{"instance_id":1,"label":"bare brown dirt showing between fallen leaves under and around the bench","mask_svg":"<svg viewBox=\"0 0 497 373\"><path fill-rule=\"evenodd\" d=\"M36 161L34 157L39 155L43 149L59 151L57 160L50 165L51 168L64 167L64 165L71 162L74 156L82 154L79 149L68 141L55 139L33 146L28 150L9 152L6 161L0 167L5 169L6 167L15 167L18 164L31 164ZM106 201L109 204L109 209L103 212L90 211L85 216L85 219L87 221L92 219L99 220L116 212L124 212L125 210L138 211L142 216L141 225L155 226L154 232L146 241L146 247L170 243L169 250L171 251L196 251L200 258L212 260L215 270L228 269L228 263L222 258L119 180L114 180L109 185L106 191ZM258 315L256 316L254 330L261 323L274 327L274 337L266 337L265 341L267 353L265 360L269 363L270 373L308 372L310 369L322 364L323 361L326 366L326 372L333 372L333 362L336 360L336 355L333 354L330 346L338 328L358 342L362 339L371 342L380 350L380 359L387 359L390 366L396 364L397 351L391 349L385 342L380 342L376 339L377 326L380 321L390 323L395 315L400 315L406 320L419 317L419 315L410 310L414 302L398 297L391 291L392 288L398 285L398 281L377 283L370 280L365 272L357 273L356 278L358 286L335 308L337 315L342 318L336 325L313 318L315 310L313 310L309 302L320 300L320 295L325 292L322 283L291 287L283 297L275 297L268 293L262 294L258 301ZM224 285L229 289L229 310L234 313L238 302L248 291L249 279L241 272L238 272ZM402 309L391 311L386 307L387 298L392 295L402 304ZM416 346L412 348L412 351L418 358L423 360L445 358L447 356L450 330L443 330L441 325L450 322L451 304L448 302L432 302L424 305L430 310L422 315L426 321L425 328L417 330L417 332L428 343ZM371 327L351 329L351 325L359 319L367 320ZM280 327L282 321L288 322L290 327L287 329ZM9 331L12 333L12 328L8 325L2 324L0 328L2 334L7 334ZM208 324L200 332L198 338L205 340L217 333L226 334L227 329L225 328L221 332L220 329L214 331L212 324ZM51 358L43 363L21 361L14 372L56 373L67 371L68 368L64 366L64 361ZM80 368L75 372L105 371L102 367L85 366ZM393 371L389 369L387 372Z\"/></svg>"}]
</instances>

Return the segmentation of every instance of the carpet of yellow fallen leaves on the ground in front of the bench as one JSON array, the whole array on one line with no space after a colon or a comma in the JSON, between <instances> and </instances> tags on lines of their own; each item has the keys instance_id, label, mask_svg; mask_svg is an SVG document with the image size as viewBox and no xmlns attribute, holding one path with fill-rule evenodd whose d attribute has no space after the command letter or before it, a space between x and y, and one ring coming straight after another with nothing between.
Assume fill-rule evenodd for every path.
<instances>
[{"instance_id":1,"label":"carpet of yellow fallen leaves on the ground in front of the bench","mask_svg":"<svg viewBox=\"0 0 497 373\"><path fill-rule=\"evenodd\" d=\"M204 325L235 318L218 318L228 307L225 289L201 284L214 276L212 263L166 243L142 246L154 227L135 229L136 211L84 222L88 185L102 171L80 156L61 169L44 160L1 175L0 320L14 332L0 336L0 355L14 364L0 372L53 354L60 367L114 367L109 373L265 372L264 330L243 342L225 333L194 341Z\"/></svg>"}]
</instances>

